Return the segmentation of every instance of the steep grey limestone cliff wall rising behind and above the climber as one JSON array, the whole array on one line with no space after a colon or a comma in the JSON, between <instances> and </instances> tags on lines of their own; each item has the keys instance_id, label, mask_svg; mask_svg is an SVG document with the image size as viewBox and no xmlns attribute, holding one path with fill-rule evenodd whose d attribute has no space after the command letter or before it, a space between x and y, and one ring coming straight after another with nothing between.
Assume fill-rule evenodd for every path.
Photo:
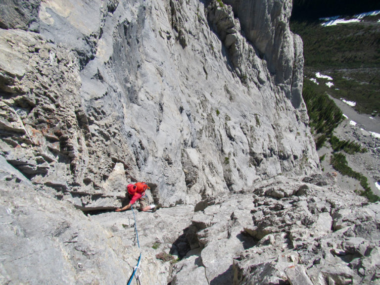
<instances>
[{"instance_id":1,"label":"steep grey limestone cliff wall rising behind and above the climber","mask_svg":"<svg viewBox=\"0 0 380 285\"><path fill-rule=\"evenodd\" d=\"M193 204L318 169L290 0L0 7L1 154L57 197L111 208L143 180Z\"/></svg>"}]
</instances>

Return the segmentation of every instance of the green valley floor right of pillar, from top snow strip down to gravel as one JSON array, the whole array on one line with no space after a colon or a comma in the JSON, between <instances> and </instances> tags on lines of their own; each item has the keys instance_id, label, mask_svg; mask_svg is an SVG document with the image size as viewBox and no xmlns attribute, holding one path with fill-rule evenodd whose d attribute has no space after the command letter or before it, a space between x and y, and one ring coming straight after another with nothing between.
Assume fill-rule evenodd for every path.
<instances>
[{"instance_id":1,"label":"green valley floor right of pillar, from top snow strip down to gravel","mask_svg":"<svg viewBox=\"0 0 380 285\"><path fill-rule=\"evenodd\" d=\"M380 29L374 20L330 27L319 21L290 23L304 43L305 81L316 72L331 76L332 88L317 79L321 92L355 101L358 112L373 116L380 114Z\"/></svg>"}]
</instances>

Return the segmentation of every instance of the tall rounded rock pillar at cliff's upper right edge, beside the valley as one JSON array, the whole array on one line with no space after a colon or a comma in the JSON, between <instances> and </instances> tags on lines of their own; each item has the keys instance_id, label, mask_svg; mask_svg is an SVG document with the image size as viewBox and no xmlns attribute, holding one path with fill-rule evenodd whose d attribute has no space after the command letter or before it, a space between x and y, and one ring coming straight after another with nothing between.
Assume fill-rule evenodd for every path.
<instances>
[{"instance_id":1,"label":"tall rounded rock pillar at cliff's upper right edge, beside the valley","mask_svg":"<svg viewBox=\"0 0 380 285\"><path fill-rule=\"evenodd\" d=\"M289 30L290 0L225 0L238 17L241 30L259 55L266 59L295 108L302 103L303 47L299 36Z\"/></svg>"}]
</instances>

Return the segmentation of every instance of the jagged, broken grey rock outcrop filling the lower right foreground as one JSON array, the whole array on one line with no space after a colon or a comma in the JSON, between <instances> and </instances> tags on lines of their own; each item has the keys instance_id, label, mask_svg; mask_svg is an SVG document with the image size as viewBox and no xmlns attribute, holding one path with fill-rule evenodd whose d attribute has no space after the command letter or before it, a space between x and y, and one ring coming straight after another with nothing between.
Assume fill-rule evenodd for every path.
<instances>
[{"instance_id":1,"label":"jagged, broken grey rock outcrop filling the lower right foreground","mask_svg":"<svg viewBox=\"0 0 380 285\"><path fill-rule=\"evenodd\" d=\"M172 284L192 271L195 284L379 282L380 204L332 177L279 177L226 198L194 213L189 231L200 249L175 264Z\"/></svg>"}]
</instances>

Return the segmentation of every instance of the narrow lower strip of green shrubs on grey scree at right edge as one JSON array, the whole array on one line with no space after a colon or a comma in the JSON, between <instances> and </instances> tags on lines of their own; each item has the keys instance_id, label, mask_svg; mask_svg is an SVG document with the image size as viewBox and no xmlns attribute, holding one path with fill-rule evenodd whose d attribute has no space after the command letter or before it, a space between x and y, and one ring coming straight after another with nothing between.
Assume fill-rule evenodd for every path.
<instances>
[{"instance_id":1,"label":"narrow lower strip of green shrubs on grey scree at right edge","mask_svg":"<svg viewBox=\"0 0 380 285\"><path fill-rule=\"evenodd\" d=\"M331 157L331 165L342 175L346 175L360 181L360 185L364 188L364 191L360 192L360 194L366 196L370 202L380 201L380 197L375 195L369 187L367 177L359 172L353 171L351 167L348 166L344 154L340 152L333 153Z\"/></svg>"}]
</instances>

